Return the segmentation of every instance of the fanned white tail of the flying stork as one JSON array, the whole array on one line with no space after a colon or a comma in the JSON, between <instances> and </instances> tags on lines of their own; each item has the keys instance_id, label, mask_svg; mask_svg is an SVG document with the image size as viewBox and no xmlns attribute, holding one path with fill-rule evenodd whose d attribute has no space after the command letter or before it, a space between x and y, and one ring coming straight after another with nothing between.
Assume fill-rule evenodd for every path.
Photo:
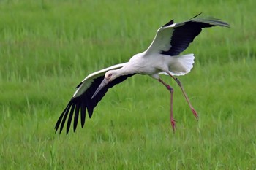
<instances>
[{"instance_id":1,"label":"fanned white tail of the flying stork","mask_svg":"<svg viewBox=\"0 0 256 170\"><path fill-rule=\"evenodd\" d=\"M189 73L190 70L193 68L193 63L195 59L194 54L177 55L172 56L172 58L176 59L175 62L172 62L172 64L169 65L169 71L172 75L181 76Z\"/></svg>"}]
</instances>

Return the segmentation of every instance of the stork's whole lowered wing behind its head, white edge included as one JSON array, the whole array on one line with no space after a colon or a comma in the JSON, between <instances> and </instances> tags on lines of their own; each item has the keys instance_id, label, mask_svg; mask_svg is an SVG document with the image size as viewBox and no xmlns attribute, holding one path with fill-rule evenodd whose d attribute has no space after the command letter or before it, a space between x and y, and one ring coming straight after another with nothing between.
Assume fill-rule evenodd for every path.
<instances>
[{"instance_id":1,"label":"stork's whole lowered wing behind its head, white edge included","mask_svg":"<svg viewBox=\"0 0 256 170\"><path fill-rule=\"evenodd\" d=\"M77 128L78 125L78 117L80 114L80 121L81 126L83 128L83 125L86 121L86 109L88 112L89 117L91 118L94 107L97 106L98 102L105 96L105 93L107 93L109 88L112 88L114 85L117 85L120 82L123 82L128 77L131 77L134 74L124 75L121 77L116 78L112 82L109 82L108 85L106 85L100 93L97 94L94 98L91 99L93 96L95 90L97 90L99 84L102 82L102 80L105 77L105 72L108 72L110 69L119 69L122 66L124 66L125 63L121 63L115 66L110 66L106 69L102 69L98 72L94 72L93 74L89 74L88 77L86 77L80 84L78 85L78 89L75 91L74 96L71 98L69 103L67 104L67 107L64 109L64 111L61 113L61 116L59 117L59 120L57 121L55 125L56 132L59 129L59 133L61 134L62 129L64 128L64 124L67 120L67 134L69 132L70 125L72 123L73 119L73 129Z\"/></svg>"}]
</instances>

